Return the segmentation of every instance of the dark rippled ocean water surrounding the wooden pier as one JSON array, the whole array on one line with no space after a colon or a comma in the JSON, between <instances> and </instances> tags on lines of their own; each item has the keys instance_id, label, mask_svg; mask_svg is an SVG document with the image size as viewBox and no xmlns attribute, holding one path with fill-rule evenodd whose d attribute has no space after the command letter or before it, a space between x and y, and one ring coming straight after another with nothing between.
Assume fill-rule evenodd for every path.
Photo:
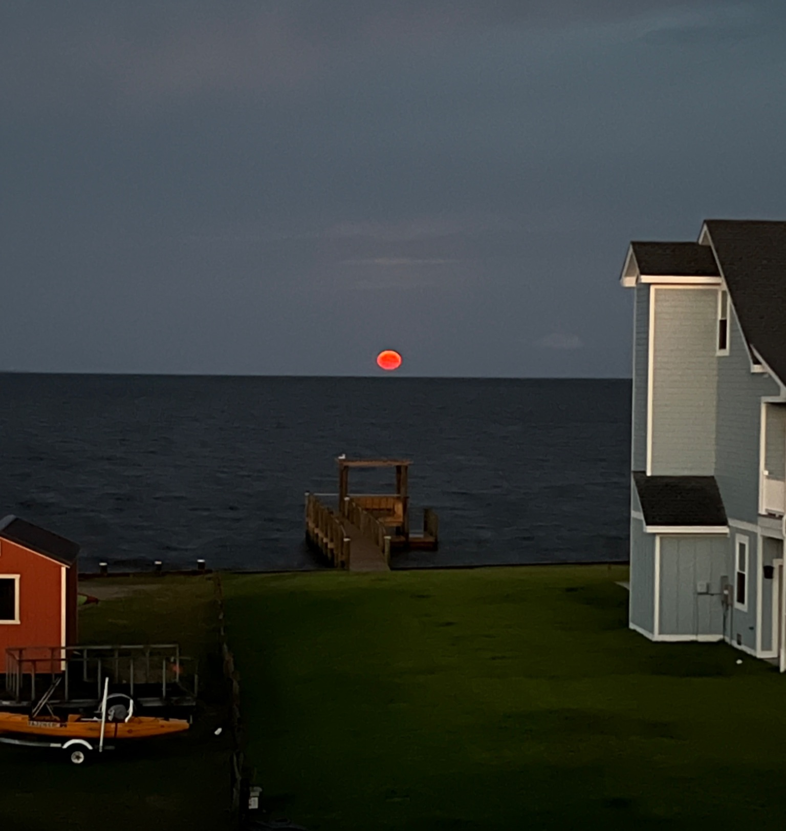
<instances>
[{"instance_id":1,"label":"dark rippled ocean water surrounding the wooden pier","mask_svg":"<svg viewBox=\"0 0 786 831\"><path fill-rule=\"evenodd\" d=\"M321 568L305 491L335 492L341 453L403 457L413 528L436 509L440 548L393 568L624 560L630 398L616 380L0 375L0 515L76 540L84 570Z\"/></svg>"}]
</instances>

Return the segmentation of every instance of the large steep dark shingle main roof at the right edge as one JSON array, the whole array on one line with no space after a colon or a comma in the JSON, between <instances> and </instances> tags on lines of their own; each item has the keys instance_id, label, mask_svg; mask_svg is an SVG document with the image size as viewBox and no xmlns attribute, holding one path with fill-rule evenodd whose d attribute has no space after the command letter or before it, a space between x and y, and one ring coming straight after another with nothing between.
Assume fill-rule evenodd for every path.
<instances>
[{"instance_id":1,"label":"large steep dark shingle main roof at the right edge","mask_svg":"<svg viewBox=\"0 0 786 831\"><path fill-rule=\"evenodd\" d=\"M786 222L705 224L746 340L786 382Z\"/></svg>"}]
</instances>

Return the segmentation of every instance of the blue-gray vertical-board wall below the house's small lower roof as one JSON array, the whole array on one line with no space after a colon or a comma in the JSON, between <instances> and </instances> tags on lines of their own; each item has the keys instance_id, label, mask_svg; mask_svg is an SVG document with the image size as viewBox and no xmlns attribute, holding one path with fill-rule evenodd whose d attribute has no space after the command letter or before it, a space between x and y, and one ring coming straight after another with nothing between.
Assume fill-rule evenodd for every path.
<instances>
[{"instance_id":1,"label":"blue-gray vertical-board wall below the house's small lower roof","mask_svg":"<svg viewBox=\"0 0 786 831\"><path fill-rule=\"evenodd\" d=\"M661 537L659 635L720 639L727 548L725 537ZM698 592L701 582L709 584L709 593Z\"/></svg>"}]
</instances>

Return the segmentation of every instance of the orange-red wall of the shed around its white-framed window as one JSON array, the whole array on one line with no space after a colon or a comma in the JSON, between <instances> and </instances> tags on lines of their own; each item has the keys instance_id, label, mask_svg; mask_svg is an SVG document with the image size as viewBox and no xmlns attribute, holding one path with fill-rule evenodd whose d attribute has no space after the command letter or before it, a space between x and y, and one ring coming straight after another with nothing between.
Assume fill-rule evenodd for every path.
<instances>
[{"instance_id":1,"label":"orange-red wall of the shed around its white-framed window","mask_svg":"<svg viewBox=\"0 0 786 831\"><path fill-rule=\"evenodd\" d=\"M0 539L0 575L19 574L20 623L0 623L0 672L6 671L7 647L61 646L61 574L66 569L68 584L76 578L76 565L66 568L41 554L22 548L17 543ZM73 572L69 575L68 572ZM68 578L71 577L71 581ZM74 635L76 636L76 591L72 592ZM66 619L69 617L66 614ZM67 631L66 637L71 634ZM48 654L48 652L46 653ZM59 665L58 665L59 666ZM41 665L41 672L51 671Z\"/></svg>"}]
</instances>

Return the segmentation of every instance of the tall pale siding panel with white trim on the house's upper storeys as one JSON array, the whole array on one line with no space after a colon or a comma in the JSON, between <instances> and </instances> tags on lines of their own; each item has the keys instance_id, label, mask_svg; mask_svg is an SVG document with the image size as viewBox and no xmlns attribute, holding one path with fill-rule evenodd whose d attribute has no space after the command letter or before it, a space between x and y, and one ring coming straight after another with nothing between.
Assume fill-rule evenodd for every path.
<instances>
[{"instance_id":1,"label":"tall pale siding panel with white trim on the house's upper storeys","mask_svg":"<svg viewBox=\"0 0 786 831\"><path fill-rule=\"evenodd\" d=\"M715 472L715 289L654 288L651 475Z\"/></svg>"}]
</instances>

